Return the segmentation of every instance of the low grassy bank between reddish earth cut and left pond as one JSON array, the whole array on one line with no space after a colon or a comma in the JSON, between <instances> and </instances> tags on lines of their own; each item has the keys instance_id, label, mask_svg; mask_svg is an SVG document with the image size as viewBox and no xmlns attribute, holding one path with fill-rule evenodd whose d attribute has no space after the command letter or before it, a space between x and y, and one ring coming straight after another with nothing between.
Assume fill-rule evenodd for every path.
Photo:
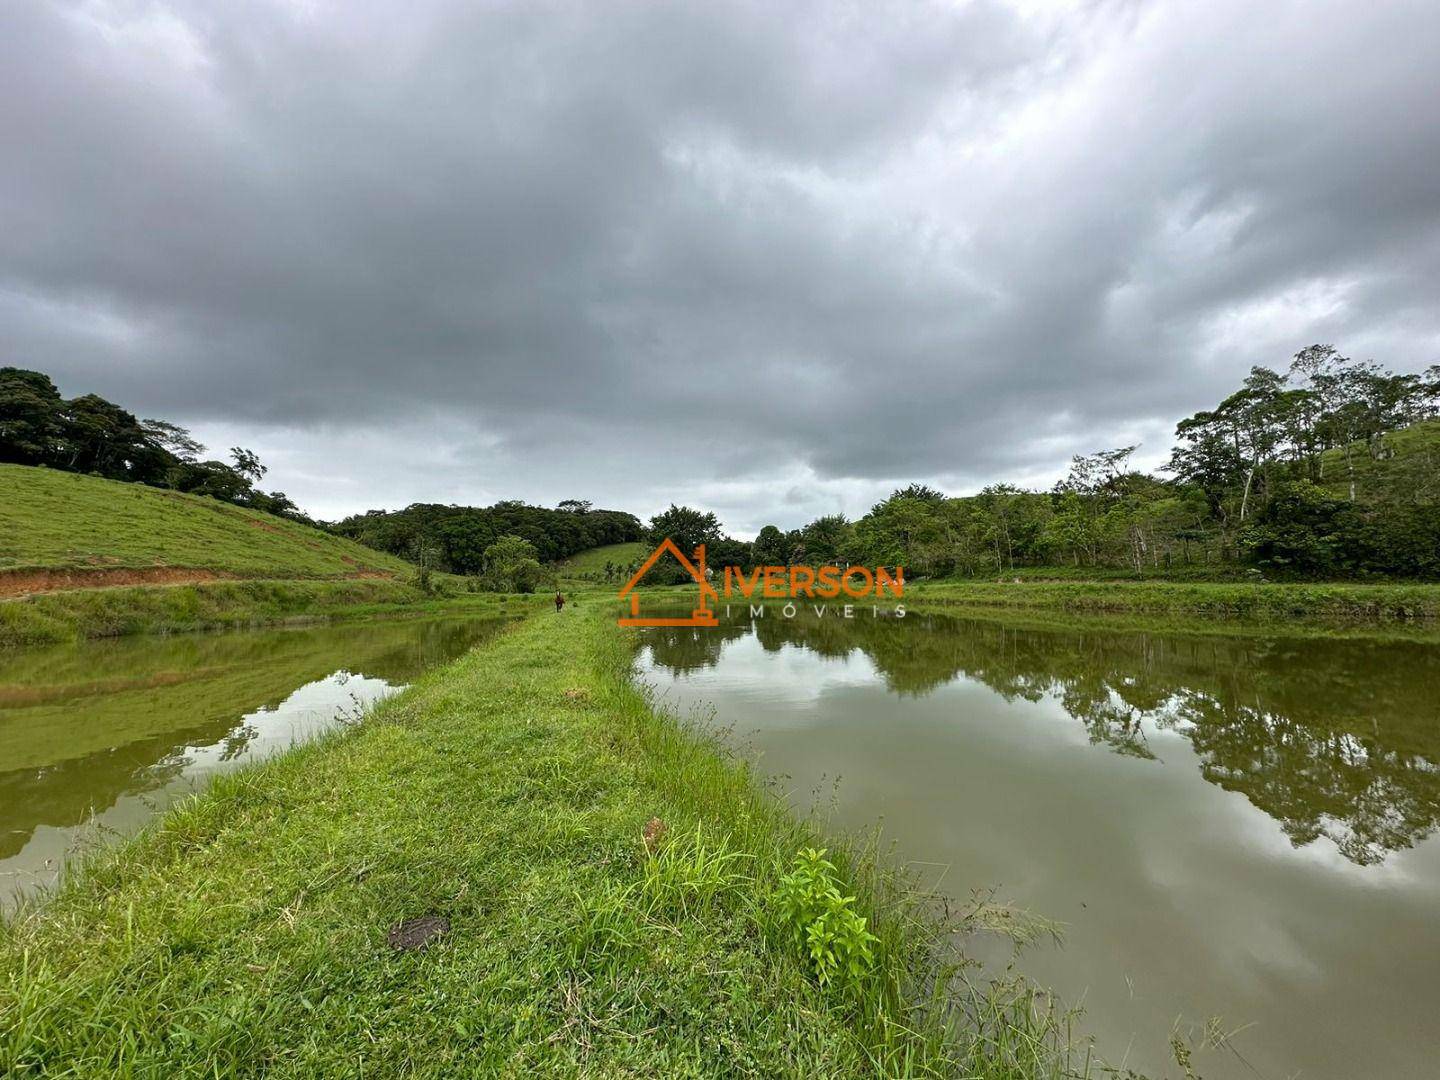
<instances>
[{"instance_id":1,"label":"low grassy bank between reddish earth cut and left pond","mask_svg":"<svg viewBox=\"0 0 1440 1080\"><path fill-rule=\"evenodd\" d=\"M130 634L174 634L276 622L524 611L534 598L426 595L400 580L243 580L203 585L71 589L0 600L0 649Z\"/></svg>"}]
</instances>

